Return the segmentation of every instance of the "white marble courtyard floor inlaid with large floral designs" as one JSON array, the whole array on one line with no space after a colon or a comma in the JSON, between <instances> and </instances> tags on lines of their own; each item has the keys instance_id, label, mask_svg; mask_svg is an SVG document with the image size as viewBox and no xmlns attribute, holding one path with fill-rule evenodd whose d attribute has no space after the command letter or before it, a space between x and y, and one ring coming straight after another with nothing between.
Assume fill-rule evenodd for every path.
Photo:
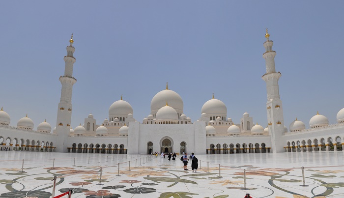
<instances>
[{"instance_id":1,"label":"white marble courtyard floor inlaid with large floral designs","mask_svg":"<svg viewBox=\"0 0 344 198\"><path fill-rule=\"evenodd\" d=\"M246 193L252 198L344 197L343 151L195 156L197 173L191 167L183 170L179 158L0 151L0 198L50 198L54 176L55 196L72 189L72 198L244 198ZM100 167L104 185L97 185ZM300 186L301 167L306 187Z\"/></svg>"}]
</instances>

